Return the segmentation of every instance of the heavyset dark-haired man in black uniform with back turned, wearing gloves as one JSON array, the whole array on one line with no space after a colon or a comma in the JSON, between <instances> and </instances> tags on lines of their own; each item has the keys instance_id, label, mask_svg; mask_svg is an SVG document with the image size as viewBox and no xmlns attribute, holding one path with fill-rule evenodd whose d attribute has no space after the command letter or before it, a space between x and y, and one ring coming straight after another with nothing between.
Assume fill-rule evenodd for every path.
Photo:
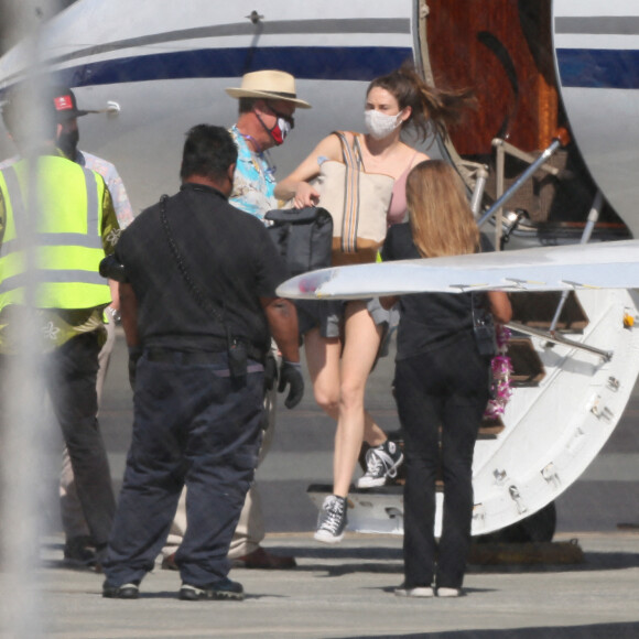
<instances>
[{"instance_id":1,"label":"heavyset dark-haired man in black uniform with back turned, wearing gloves","mask_svg":"<svg viewBox=\"0 0 639 639\"><path fill-rule=\"evenodd\" d=\"M134 423L105 597L138 597L184 484L180 597L243 596L227 577L227 553L257 464L271 335L283 357L279 389L289 387L288 408L302 399L304 383L295 308L275 294L286 268L263 224L227 202L236 160L225 129L194 127L181 192L143 212L117 248Z\"/></svg>"}]
</instances>

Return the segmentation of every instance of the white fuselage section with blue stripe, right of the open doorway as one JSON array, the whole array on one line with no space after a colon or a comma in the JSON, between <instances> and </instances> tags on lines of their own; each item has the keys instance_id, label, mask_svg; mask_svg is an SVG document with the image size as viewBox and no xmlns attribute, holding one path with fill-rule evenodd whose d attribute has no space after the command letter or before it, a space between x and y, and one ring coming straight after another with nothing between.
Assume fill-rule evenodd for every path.
<instances>
[{"instance_id":1,"label":"white fuselage section with blue stripe, right of the open doorway","mask_svg":"<svg viewBox=\"0 0 639 639\"><path fill-rule=\"evenodd\" d=\"M577 145L604 196L639 238L639 6L554 0L553 44Z\"/></svg>"}]
</instances>

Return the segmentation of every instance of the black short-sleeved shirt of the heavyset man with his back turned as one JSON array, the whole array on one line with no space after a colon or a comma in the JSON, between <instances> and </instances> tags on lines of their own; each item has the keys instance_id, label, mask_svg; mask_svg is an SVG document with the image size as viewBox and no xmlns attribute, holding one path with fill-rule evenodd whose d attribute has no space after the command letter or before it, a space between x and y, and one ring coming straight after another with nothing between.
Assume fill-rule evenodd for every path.
<instances>
[{"instance_id":1,"label":"black short-sleeved shirt of the heavyset man with his back turned","mask_svg":"<svg viewBox=\"0 0 639 639\"><path fill-rule=\"evenodd\" d=\"M142 212L122 234L116 256L138 299L138 329L145 347L219 350L225 328L195 300L171 251L160 204ZM185 184L166 201L166 218L187 271L216 305L224 305L234 337L266 351L269 327L260 297L275 297L286 277L263 224L224 195Z\"/></svg>"}]
</instances>

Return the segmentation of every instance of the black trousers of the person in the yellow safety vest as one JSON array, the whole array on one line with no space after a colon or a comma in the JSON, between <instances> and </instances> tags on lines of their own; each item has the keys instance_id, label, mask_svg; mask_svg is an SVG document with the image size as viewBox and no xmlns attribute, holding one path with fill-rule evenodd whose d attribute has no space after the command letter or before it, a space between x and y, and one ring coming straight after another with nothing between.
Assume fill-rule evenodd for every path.
<instances>
[{"instance_id":1,"label":"black trousers of the person in the yellow safety vest","mask_svg":"<svg viewBox=\"0 0 639 639\"><path fill-rule=\"evenodd\" d=\"M105 546L109 539L116 510L109 463L97 420L99 351L99 335L94 331L72 337L43 356L44 387L62 427L78 498L98 548ZM0 357L4 373L12 367L12 359L8 355ZM33 398L44 405L42 400Z\"/></svg>"}]
</instances>

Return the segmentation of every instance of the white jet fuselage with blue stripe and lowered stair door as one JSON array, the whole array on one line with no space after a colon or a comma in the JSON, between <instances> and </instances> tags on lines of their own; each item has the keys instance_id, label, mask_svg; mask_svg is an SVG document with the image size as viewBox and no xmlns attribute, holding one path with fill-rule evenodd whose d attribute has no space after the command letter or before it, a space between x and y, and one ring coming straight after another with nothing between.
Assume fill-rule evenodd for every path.
<instances>
[{"instance_id":1,"label":"white jet fuselage with blue stripe and lowered stair door","mask_svg":"<svg viewBox=\"0 0 639 639\"><path fill-rule=\"evenodd\" d=\"M119 112L79 121L80 148L117 165L139 212L177 189L192 126L235 121L237 101L224 89L239 86L246 72L289 71L299 96L313 105L295 113L285 145L272 151L280 177L331 131L361 130L370 79L407 58L421 64L421 48L437 45L420 32L426 9L418 0L79 0L43 29L37 55L58 82L75 88L80 108L117 102ZM639 237L639 6L555 0L551 18L557 84L576 143L605 197ZM26 52L22 45L0 59L0 89L24 77ZM14 152L1 141L0 155ZM436 145L429 153L436 154ZM589 322L574 338L613 357L605 361L533 339L545 377L517 389L503 432L477 444L474 533L508 526L555 499L624 411L639 372L639 335L624 325L638 314L637 296L593 290L581 292L580 301ZM386 506L366 508L358 505L356 527L401 532L401 518L385 515Z\"/></svg>"}]
</instances>

